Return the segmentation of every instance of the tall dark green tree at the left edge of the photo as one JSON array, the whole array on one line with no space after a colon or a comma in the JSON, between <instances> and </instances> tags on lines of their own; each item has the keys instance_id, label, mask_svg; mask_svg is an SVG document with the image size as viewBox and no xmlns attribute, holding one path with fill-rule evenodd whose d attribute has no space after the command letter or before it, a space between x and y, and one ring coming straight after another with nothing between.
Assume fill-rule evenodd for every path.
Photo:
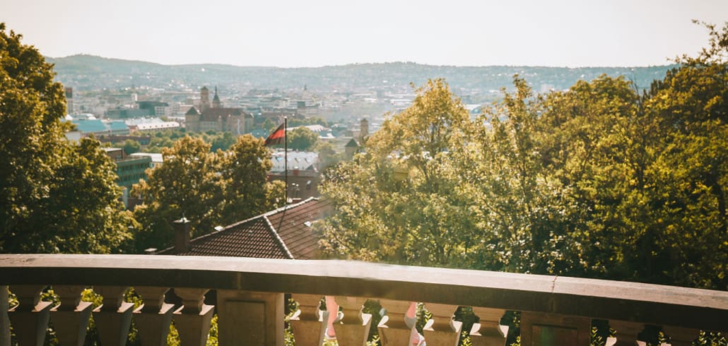
<instances>
[{"instance_id":1,"label":"tall dark green tree at the left edge of the photo","mask_svg":"<svg viewBox=\"0 0 728 346\"><path fill-rule=\"evenodd\" d=\"M63 86L0 24L0 252L119 252L130 214L97 140L66 140Z\"/></svg>"}]
</instances>

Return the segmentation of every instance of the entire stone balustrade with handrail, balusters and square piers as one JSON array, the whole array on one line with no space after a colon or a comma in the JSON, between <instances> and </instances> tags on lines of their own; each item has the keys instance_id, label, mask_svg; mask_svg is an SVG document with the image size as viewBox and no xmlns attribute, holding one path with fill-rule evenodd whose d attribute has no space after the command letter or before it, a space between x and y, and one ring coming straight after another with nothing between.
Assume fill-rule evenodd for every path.
<instances>
[{"instance_id":1,"label":"entire stone balustrade with handrail, balusters and square piers","mask_svg":"<svg viewBox=\"0 0 728 346\"><path fill-rule=\"evenodd\" d=\"M49 285L60 305L40 300ZM103 305L81 301L87 286ZM124 302L130 286L143 305ZM165 302L172 288L175 304ZM12 309L8 289L20 302ZM214 305L206 304L213 292ZM381 345L407 345L412 329L403 317L411 301L432 313L423 330L430 346L456 345L458 306L480 318L470 330L473 345L504 345L506 310L521 312L521 345L589 345L594 319L616 330L607 345L644 345L638 334L646 325L670 336L671 345L691 345L700 329L728 331L727 291L333 260L0 254L0 310L8 311L0 314L0 345L10 345L10 325L20 346L42 345L49 321L61 345L82 345L90 315L104 346L124 345L132 319L143 345L165 345L172 320L181 345L205 345L215 311L220 345L283 345L284 294L300 306L290 319L296 345L321 344L323 295L343 310L335 327L342 346L364 345L373 328ZM379 325L362 312L366 299L387 310Z\"/></svg>"}]
</instances>

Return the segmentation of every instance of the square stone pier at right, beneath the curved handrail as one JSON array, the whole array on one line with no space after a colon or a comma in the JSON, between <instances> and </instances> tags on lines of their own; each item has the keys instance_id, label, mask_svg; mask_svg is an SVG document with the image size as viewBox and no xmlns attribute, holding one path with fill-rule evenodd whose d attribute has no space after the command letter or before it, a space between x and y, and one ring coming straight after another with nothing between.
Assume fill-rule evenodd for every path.
<instances>
[{"instance_id":1,"label":"square stone pier at right, beneath the curved handrail","mask_svg":"<svg viewBox=\"0 0 728 346\"><path fill-rule=\"evenodd\" d=\"M521 312L521 345L589 345L591 319L555 313Z\"/></svg>"}]
</instances>

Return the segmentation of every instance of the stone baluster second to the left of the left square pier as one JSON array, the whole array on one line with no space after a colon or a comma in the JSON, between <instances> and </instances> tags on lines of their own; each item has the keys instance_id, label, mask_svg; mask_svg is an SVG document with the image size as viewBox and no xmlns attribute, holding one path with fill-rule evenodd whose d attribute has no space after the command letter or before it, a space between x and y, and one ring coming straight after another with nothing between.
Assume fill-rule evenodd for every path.
<instances>
[{"instance_id":1,"label":"stone baluster second to the left of the left square pier","mask_svg":"<svg viewBox=\"0 0 728 346\"><path fill-rule=\"evenodd\" d=\"M167 345L174 304L165 303L165 287L136 286L144 304L134 310L134 321L142 345Z\"/></svg>"}]
</instances>

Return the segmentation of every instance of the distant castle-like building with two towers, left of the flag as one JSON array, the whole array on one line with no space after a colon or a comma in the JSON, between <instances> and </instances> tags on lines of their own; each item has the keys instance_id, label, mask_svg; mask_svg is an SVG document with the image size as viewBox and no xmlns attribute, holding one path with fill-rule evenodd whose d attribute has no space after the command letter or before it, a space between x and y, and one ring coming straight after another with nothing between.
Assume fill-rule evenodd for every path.
<instances>
[{"instance_id":1,"label":"distant castle-like building with two towers, left of the flag","mask_svg":"<svg viewBox=\"0 0 728 346\"><path fill-rule=\"evenodd\" d=\"M187 110L185 127L189 132L245 134L253 130L253 115L242 108L223 108L216 87L213 102L210 102L210 91L207 87L202 87L199 109L191 107Z\"/></svg>"}]
</instances>

